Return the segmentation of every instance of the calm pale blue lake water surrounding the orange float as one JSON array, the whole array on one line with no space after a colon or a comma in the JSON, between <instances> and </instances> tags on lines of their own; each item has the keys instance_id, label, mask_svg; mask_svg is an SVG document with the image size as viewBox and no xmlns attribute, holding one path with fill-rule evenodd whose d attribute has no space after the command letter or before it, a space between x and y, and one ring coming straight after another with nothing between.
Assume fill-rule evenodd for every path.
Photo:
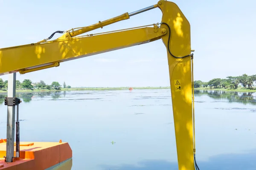
<instances>
[{"instance_id":1,"label":"calm pale blue lake water surrounding the orange float","mask_svg":"<svg viewBox=\"0 0 256 170\"><path fill-rule=\"evenodd\" d=\"M6 138L5 96L0 138ZM20 140L69 142L72 170L177 170L169 89L17 97ZM195 133L200 170L256 170L256 94L195 91Z\"/></svg>"}]
</instances>

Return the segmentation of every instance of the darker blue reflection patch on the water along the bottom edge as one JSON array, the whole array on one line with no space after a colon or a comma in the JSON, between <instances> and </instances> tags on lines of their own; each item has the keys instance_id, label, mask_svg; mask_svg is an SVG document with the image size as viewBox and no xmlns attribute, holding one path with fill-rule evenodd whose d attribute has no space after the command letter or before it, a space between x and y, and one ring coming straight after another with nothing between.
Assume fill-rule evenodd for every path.
<instances>
[{"instance_id":1,"label":"darker blue reflection patch on the water along the bottom edge","mask_svg":"<svg viewBox=\"0 0 256 170\"><path fill-rule=\"evenodd\" d=\"M209 161L197 161L203 170L255 170L256 150L249 153L221 154L212 156ZM177 162L166 160L145 160L134 164L121 166L102 165L103 170L178 170Z\"/></svg>"}]
</instances>

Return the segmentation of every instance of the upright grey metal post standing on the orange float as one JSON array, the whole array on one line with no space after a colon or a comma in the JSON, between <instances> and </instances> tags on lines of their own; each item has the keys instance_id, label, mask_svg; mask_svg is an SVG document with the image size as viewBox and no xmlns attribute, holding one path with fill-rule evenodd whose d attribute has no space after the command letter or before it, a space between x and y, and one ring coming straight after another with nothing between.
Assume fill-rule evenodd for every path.
<instances>
[{"instance_id":1,"label":"upright grey metal post standing on the orange float","mask_svg":"<svg viewBox=\"0 0 256 170\"><path fill-rule=\"evenodd\" d=\"M9 74L8 97L15 97L16 73ZM14 131L15 129L15 105L7 106L7 134L6 134L6 162L12 162L14 157Z\"/></svg>"}]
</instances>

